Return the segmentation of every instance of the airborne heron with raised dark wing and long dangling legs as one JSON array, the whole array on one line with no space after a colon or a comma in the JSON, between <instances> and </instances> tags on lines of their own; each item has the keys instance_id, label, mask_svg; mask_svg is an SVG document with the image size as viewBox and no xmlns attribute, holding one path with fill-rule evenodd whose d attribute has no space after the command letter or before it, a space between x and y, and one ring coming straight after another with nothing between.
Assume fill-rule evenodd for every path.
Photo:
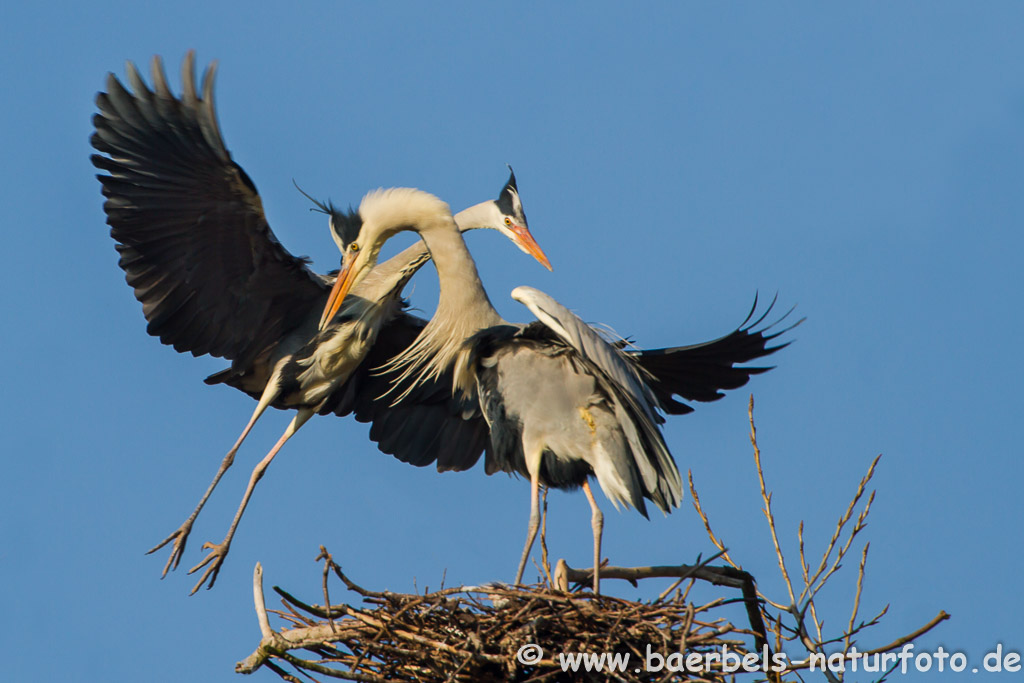
<instances>
[{"instance_id":1,"label":"airborne heron with raised dark wing and long dangling legs","mask_svg":"<svg viewBox=\"0 0 1024 683\"><path fill-rule=\"evenodd\" d=\"M333 276L310 270L307 260L290 254L270 230L255 185L231 160L220 134L213 102L215 65L206 70L200 95L189 52L180 98L171 93L159 57L152 71L153 90L129 62L133 92L111 74L106 92L96 96L99 114L91 141L101 154L93 155L92 163L106 172L98 178L120 265L142 303L151 335L177 351L230 360L227 370L206 382L227 384L258 399L196 509L150 550L173 542L163 575L177 567L197 516L263 412L271 405L296 411L253 470L224 540L203 546L209 554L189 570L207 567L195 593L204 583L213 586L256 483L307 420L316 413L356 413L383 424L370 369L407 347L426 325L403 312L401 290L430 255L423 243L410 247L374 268L344 306L322 318ZM338 246L351 242L358 229L353 214L330 203L316 206L329 214ZM530 236L514 174L498 200L470 207L455 220L459 229L500 230L550 269ZM375 425L382 450L410 462L436 461L440 469L475 462L485 430L464 424L444 400L435 409L418 416L433 439L417 442L415 453L403 451L400 441L390 446Z\"/></svg>"}]
</instances>

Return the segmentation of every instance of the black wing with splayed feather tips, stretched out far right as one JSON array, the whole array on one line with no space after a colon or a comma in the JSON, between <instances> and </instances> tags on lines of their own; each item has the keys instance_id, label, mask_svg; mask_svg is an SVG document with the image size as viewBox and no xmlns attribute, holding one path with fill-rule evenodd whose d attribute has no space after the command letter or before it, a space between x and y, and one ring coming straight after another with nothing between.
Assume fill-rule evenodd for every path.
<instances>
[{"instance_id":1,"label":"black wing with splayed feather tips, stretched out far right","mask_svg":"<svg viewBox=\"0 0 1024 683\"><path fill-rule=\"evenodd\" d=\"M793 309L774 323L760 330L756 329L774 306L775 299L772 299L764 313L752 322L758 307L755 296L746 319L724 337L702 344L650 350L630 349L626 353L647 372L647 384L666 413L692 413L690 405L676 400L674 396L682 396L687 400L718 400L725 395L723 391L737 389L746 384L752 375L760 375L772 369L771 366L751 367L738 364L771 355L792 343L768 345L773 339L804 322L801 318L782 330L772 332Z\"/></svg>"}]
</instances>

